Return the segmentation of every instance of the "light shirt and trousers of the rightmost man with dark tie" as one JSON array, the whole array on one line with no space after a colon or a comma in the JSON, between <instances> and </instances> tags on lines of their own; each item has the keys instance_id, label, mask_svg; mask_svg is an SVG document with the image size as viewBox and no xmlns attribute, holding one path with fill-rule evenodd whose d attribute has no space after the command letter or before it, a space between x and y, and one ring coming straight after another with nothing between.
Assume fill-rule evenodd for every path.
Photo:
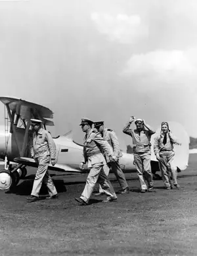
<instances>
[{"instance_id":1,"label":"light shirt and trousers of the rightmost man with dark tie","mask_svg":"<svg viewBox=\"0 0 197 256\"><path fill-rule=\"evenodd\" d=\"M164 142L164 134L158 135L154 139L154 153L160 156L159 167L162 172L162 179L166 188L171 187L170 174L172 174L173 185L177 185L177 166L174 164L175 152L173 144L179 144L172 133L167 133L166 144Z\"/></svg>"}]
</instances>

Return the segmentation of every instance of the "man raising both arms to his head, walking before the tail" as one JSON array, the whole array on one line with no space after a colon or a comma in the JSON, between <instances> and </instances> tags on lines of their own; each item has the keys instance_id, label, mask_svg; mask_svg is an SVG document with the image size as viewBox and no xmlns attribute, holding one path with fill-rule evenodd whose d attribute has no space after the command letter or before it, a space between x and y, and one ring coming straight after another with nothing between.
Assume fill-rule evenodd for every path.
<instances>
[{"instance_id":1,"label":"man raising both arms to his head, walking before the tail","mask_svg":"<svg viewBox=\"0 0 197 256\"><path fill-rule=\"evenodd\" d=\"M131 123L135 121L136 129L130 129ZM150 166L150 138L155 133L154 129L147 125L144 120L132 116L129 123L123 128L123 133L130 135L133 139L134 162L137 168L137 175L141 183L141 193L147 191L144 179L148 183L148 191L153 190L153 178Z\"/></svg>"}]
</instances>

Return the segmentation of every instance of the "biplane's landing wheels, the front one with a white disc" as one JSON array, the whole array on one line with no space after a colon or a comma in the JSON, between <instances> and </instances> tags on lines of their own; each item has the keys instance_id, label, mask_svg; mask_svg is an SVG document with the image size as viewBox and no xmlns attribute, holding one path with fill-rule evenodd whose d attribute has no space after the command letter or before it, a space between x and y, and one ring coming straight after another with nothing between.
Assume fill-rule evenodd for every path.
<instances>
[{"instance_id":1,"label":"biplane's landing wheels, the front one with a white disc","mask_svg":"<svg viewBox=\"0 0 197 256\"><path fill-rule=\"evenodd\" d=\"M12 168L11 165L7 170L0 172L0 189L7 190L12 189L18 184L18 181L22 175L26 176L26 168L22 164L18 164L16 167Z\"/></svg>"}]
</instances>

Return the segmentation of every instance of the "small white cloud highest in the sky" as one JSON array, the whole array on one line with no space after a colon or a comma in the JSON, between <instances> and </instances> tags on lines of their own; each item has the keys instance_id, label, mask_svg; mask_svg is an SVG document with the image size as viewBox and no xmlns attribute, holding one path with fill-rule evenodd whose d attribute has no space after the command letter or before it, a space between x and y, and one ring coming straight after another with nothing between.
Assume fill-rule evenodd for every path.
<instances>
[{"instance_id":1,"label":"small white cloud highest in the sky","mask_svg":"<svg viewBox=\"0 0 197 256\"><path fill-rule=\"evenodd\" d=\"M139 15L116 16L92 13L91 19L95 22L100 33L105 34L110 41L121 44L135 44L140 38L148 35L148 26L142 24Z\"/></svg>"}]
</instances>

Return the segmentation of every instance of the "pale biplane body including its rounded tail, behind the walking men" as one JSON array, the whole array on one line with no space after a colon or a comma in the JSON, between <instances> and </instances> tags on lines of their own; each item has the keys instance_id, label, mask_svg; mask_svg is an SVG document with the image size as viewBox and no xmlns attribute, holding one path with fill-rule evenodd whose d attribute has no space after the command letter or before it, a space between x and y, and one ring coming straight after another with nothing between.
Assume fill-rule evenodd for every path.
<instances>
[{"instance_id":1,"label":"pale biplane body including its rounded tail, behind the walking men","mask_svg":"<svg viewBox=\"0 0 197 256\"><path fill-rule=\"evenodd\" d=\"M173 124L173 123L172 123ZM176 124L176 123L175 123ZM175 125L174 124L174 125ZM172 125L171 125L172 126ZM176 127L179 131L181 137L181 146L175 145L175 164L179 170L185 170L188 165L188 135L186 134L183 127L180 125ZM179 128L179 129L178 129ZM24 143L24 133L25 129L16 127L16 137L14 137L13 133L5 133L5 129L3 126L0 127L0 158L4 158L5 154L7 154L8 160L13 161L14 158L20 156L20 150L22 149ZM30 137L32 136L32 130L29 131L28 134L28 142L25 145L25 153L24 156L31 158L30 155ZM158 171L158 161L156 160L156 156L153 152L153 144L154 137L152 136L152 148L151 148L151 163L152 170ZM18 141L18 146L16 143L16 139ZM81 162L81 156L83 152L83 146L75 143L72 138L64 136L58 136L53 138L56 144L57 149L57 164L64 167L64 170L78 170L79 164ZM120 158L120 167L123 172L136 172L135 164L133 164L133 154L127 154L123 152L123 156ZM85 169L87 169L87 165L85 165Z\"/></svg>"}]
</instances>

